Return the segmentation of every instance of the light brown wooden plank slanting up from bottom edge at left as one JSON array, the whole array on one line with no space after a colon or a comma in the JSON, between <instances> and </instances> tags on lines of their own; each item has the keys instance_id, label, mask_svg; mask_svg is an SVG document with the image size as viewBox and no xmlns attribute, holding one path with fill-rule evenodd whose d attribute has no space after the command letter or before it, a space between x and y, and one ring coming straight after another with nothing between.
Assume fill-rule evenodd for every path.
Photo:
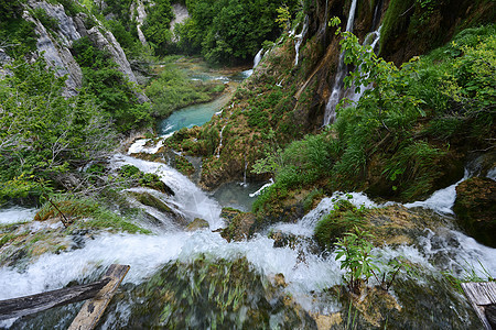
<instances>
[{"instance_id":1,"label":"light brown wooden plank slanting up from bottom edge at left","mask_svg":"<svg viewBox=\"0 0 496 330\"><path fill-rule=\"evenodd\" d=\"M105 274L104 279L109 278L110 282L101 288L94 299L86 301L79 314L74 319L68 330L90 330L95 329L105 309L114 297L117 288L128 273L128 265L110 265Z\"/></svg>"}]
</instances>

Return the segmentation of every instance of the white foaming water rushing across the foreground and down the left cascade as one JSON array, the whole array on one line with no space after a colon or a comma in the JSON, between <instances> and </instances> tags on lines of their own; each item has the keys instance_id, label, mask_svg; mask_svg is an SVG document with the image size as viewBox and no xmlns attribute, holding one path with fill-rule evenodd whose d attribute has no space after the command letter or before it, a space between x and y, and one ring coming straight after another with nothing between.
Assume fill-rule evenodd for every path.
<instances>
[{"instance_id":1,"label":"white foaming water rushing across the foreground and down the left cascade","mask_svg":"<svg viewBox=\"0 0 496 330\"><path fill-rule=\"evenodd\" d=\"M227 260L246 257L257 272L268 278L273 278L276 274L283 274L288 284L284 290L308 311L331 314L339 310L339 302L332 302L328 299L320 301L315 298L315 295L324 293L326 288L342 284L343 271L333 254L327 256L313 254L310 252L309 243L304 241L296 249L274 248L274 241L265 234L257 234L249 241L228 243L218 232L211 231L224 224L219 218L220 207L217 201L197 188L188 178L164 164L145 162L127 155L114 156L111 164L114 168L130 164L145 173L157 173L174 190L175 196L171 199L186 217L190 220L205 219L211 229L195 232L174 230L155 235L128 233L96 235L82 249L60 254L44 254L22 271L11 267L0 268L0 299L61 288L73 280L88 280L88 278L93 280L99 278L112 263L131 266L123 280L125 284L140 284L170 261L190 262L200 254L205 254L214 258ZM452 191L451 188L449 190ZM439 196L436 199L448 198L443 191L434 194ZM451 198L450 195L450 202ZM296 223L279 223L269 230L310 238L319 220L333 210L338 199L347 199L356 207L384 206L375 204L360 193L335 193L332 197L322 199L315 209ZM433 272L435 270L431 260L441 257L444 260L444 268L454 266L463 268L464 264L468 264L481 276L486 273L496 276L496 250L481 245L460 232L427 231L424 235L418 238L418 243L420 248L385 246L376 249L376 253L384 260L401 255ZM0 322L0 327L8 327L11 322Z\"/></svg>"}]
</instances>

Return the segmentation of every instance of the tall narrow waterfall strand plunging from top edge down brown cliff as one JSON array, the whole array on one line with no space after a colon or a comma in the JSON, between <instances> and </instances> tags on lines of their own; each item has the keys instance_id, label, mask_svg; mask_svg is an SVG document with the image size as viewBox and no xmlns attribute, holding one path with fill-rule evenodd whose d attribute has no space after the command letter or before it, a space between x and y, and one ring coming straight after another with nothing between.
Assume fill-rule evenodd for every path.
<instances>
[{"instance_id":1,"label":"tall narrow waterfall strand plunging from top edge down brown cliff","mask_svg":"<svg viewBox=\"0 0 496 330\"><path fill-rule=\"evenodd\" d=\"M353 22L355 21L356 0L353 0L349 8L348 21L346 23L346 32L353 32ZM325 105L324 125L328 125L336 119L336 106L339 102L343 78L346 74L346 66L344 65L344 52L341 52L337 64L337 73L334 78L333 90Z\"/></svg>"}]
</instances>

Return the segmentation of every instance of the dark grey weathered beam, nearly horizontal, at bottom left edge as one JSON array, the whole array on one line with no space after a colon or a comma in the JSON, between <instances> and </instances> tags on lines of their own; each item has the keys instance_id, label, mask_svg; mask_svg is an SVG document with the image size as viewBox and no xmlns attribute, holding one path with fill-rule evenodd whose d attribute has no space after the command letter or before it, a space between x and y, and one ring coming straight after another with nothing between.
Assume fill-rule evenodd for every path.
<instances>
[{"instance_id":1,"label":"dark grey weathered beam, nearly horizontal, at bottom left edge","mask_svg":"<svg viewBox=\"0 0 496 330\"><path fill-rule=\"evenodd\" d=\"M0 320L18 318L95 297L110 279L0 301Z\"/></svg>"}]
</instances>

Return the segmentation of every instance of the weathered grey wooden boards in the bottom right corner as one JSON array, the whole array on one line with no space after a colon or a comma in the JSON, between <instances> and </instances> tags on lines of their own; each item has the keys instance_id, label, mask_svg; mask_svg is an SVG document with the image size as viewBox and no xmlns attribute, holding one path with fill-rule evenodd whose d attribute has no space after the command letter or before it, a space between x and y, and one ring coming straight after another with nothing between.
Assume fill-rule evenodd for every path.
<instances>
[{"instance_id":1,"label":"weathered grey wooden boards in the bottom right corner","mask_svg":"<svg viewBox=\"0 0 496 330\"><path fill-rule=\"evenodd\" d=\"M462 283L462 288L468 300L471 301L471 305L477 314L478 318L483 322L484 328L486 330L492 330L484 310L485 306L496 304L496 283Z\"/></svg>"}]
</instances>

